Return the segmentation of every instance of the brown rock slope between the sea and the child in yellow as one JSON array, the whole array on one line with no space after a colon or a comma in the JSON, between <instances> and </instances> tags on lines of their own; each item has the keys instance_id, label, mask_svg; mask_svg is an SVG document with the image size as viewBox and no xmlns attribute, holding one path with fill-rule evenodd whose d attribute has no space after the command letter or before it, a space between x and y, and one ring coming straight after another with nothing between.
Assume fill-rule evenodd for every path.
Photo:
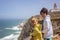
<instances>
[{"instance_id":1,"label":"brown rock slope between the sea and the child in yellow","mask_svg":"<svg viewBox=\"0 0 60 40\"><path fill-rule=\"evenodd\" d=\"M25 40L30 35L30 32L32 31L33 27L31 23L31 18L29 18L25 23L18 40Z\"/></svg>"}]
</instances>

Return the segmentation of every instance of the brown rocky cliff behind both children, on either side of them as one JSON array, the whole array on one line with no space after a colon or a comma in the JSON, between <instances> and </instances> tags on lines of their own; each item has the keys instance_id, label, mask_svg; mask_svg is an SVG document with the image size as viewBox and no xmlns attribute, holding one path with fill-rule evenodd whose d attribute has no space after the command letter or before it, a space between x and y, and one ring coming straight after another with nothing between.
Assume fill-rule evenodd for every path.
<instances>
[{"instance_id":1,"label":"brown rocky cliff behind both children, on either side of them","mask_svg":"<svg viewBox=\"0 0 60 40\"><path fill-rule=\"evenodd\" d=\"M60 33L60 29L59 29L60 28L60 12L49 12L49 15L51 16L51 22L53 25L54 35L59 34ZM34 17L36 17L39 23L42 24L43 18L40 15L35 15ZM26 38L28 38L30 32L33 31L31 18L29 18L27 22L24 24L18 40L27 40Z\"/></svg>"}]
</instances>

